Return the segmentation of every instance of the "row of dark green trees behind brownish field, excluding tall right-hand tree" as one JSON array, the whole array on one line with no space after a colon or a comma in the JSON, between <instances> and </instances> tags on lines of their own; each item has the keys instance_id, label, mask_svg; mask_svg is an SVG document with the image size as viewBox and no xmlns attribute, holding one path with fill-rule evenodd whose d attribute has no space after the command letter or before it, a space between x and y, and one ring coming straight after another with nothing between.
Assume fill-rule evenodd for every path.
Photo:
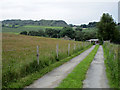
<instances>
[{"instance_id":1,"label":"row of dark green trees behind brownish field, excluding tall right-hand tree","mask_svg":"<svg viewBox=\"0 0 120 90\"><path fill-rule=\"evenodd\" d=\"M23 31L20 32L22 35L29 36L42 36L42 37L50 37L50 38L63 38L65 36L74 39L76 41L85 41L91 38L97 38L96 32L82 32L82 28L77 27L73 29L72 27L63 27L61 30L56 30L52 28L46 28L45 30L39 31Z\"/></svg>"}]
</instances>

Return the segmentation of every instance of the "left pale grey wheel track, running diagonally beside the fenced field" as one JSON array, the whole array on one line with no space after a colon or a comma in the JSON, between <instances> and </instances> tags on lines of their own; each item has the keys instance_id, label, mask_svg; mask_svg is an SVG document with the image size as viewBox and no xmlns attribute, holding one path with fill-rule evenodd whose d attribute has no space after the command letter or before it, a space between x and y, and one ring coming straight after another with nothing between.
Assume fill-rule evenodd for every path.
<instances>
[{"instance_id":1,"label":"left pale grey wheel track, running diagonally beside the fenced field","mask_svg":"<svg viewBox=\"0 0 120 90\"><path fill-rule=\"evenodd\" d=\"M90 49L84 51L77 57L71 59L60 67L54 69L53 71L47 73L40 79L36 80L30 86L25 88L55 88L59 83L74 69L74 67L79 64L93 49L95 46L92 46Z\"/></svg>"}]
</instances>

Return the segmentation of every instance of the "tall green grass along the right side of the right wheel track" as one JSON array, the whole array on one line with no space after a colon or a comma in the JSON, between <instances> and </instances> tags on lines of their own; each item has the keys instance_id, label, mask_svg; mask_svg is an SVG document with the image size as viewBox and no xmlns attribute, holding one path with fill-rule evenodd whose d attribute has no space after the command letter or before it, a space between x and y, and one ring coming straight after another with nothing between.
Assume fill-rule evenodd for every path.
<instances>
[{"instance_id":1,"label":"tall green grass along the right side of the right wheel track","mask_svg":"<svg viewBox=\"0 0 120 90\"><path fill-rule=\"evenodd\" d=\"M103 45L107 77L111 88L120 88L120 45Z\"/></svg>"}]
</instances>

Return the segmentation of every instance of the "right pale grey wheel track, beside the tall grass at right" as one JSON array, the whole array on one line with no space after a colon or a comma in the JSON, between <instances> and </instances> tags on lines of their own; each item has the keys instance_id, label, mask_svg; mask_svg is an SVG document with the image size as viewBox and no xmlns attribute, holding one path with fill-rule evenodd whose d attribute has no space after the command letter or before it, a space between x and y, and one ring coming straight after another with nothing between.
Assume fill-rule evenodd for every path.
<instances>
[{"instance_id":1,"label":"right pale grey wheel track, beside the tall grass at right","mask_svg":"<svg viewBox=\"0 0 120 90\"><path fill-rule=\"evenodd\" d=\"M97 54L88 69L86 79L83 82L83 88L109 88L102 46L99 47Z\"/></svg>"}]
</instances>

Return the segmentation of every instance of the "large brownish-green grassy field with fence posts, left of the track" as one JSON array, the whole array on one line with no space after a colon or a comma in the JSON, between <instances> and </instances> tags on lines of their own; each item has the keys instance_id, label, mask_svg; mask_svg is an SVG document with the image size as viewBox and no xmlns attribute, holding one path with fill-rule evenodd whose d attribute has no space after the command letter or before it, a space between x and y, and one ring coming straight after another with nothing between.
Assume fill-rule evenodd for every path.
<instances>
[{"instance_id":1,"label":"large brownish-green grassy field with fence posts, left of the track","mask_svg":"<svg viewBox=\"0 0 120 90\"><path fill-rule=\"evenodd\" d=\"M3 33L2 39L3 87L9 86L11 83L16 82L18 79L20 80L29 74L40 70L42 71L43 68L68 57L68 43L70 43L70 55L81 51L90 45L86 42L82 43L7 33ZM58 59L56 57L56 44L59 45ZM76 44L75 50L73 49L74 44ZM36 57L37 45L39 46L40 54L39 65L37 64Z\"/></svg>"}]
</instances>

